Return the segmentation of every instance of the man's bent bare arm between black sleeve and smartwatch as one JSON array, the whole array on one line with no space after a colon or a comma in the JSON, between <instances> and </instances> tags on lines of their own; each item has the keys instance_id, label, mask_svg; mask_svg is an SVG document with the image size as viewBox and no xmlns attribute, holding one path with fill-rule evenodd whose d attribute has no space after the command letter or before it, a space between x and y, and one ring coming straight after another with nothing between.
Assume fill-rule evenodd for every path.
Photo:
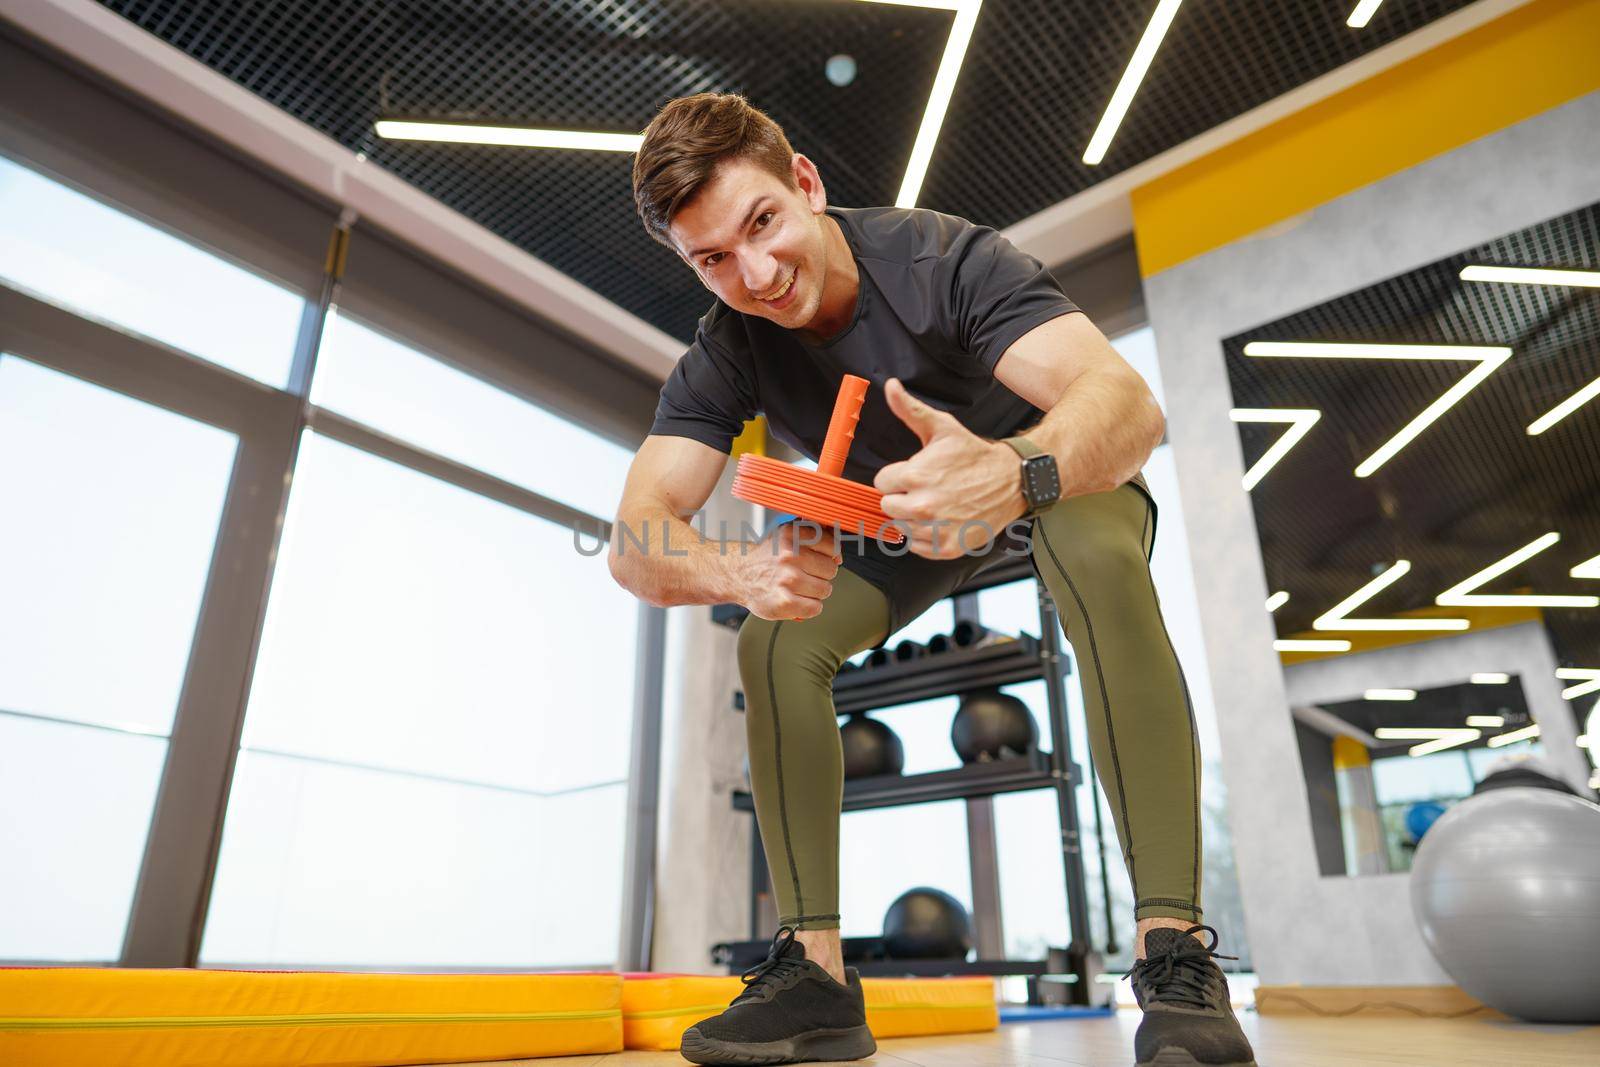
<instances>
[{"instance_id":1,"label":"man's bent bare arm between black sleeve and smartwatch","mask_svg":"<svg viewBox=\"0 0 1600 1067\"><path fill-rule=\"evenodd\" d=\"M1022 334L995 363L995 378L1045 411L1024 437L1056 458L1062 496L1115 490L1139 474L1166 432L1144 378L1083 314Z\"/></svg>"}]
</instances>

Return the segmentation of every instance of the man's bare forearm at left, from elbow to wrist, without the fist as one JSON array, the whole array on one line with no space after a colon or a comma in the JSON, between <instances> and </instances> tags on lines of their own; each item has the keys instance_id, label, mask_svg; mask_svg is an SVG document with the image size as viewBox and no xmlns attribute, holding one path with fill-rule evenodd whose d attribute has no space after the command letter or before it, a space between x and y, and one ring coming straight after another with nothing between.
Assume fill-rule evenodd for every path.
<instances>
[{"instance_id":1,"label":"man's bare forearm at left, from elbow to wrist, without the fist","mask_svg":"<svg viewBox=\"0 0 1600 1067\"><path fill-rule=\"evenodd\" d=\"M739 561L750 547L706 537L667 509L635 512L611 528L611 574L658 608L744 603Z\"/></svg>"}]
</instances>

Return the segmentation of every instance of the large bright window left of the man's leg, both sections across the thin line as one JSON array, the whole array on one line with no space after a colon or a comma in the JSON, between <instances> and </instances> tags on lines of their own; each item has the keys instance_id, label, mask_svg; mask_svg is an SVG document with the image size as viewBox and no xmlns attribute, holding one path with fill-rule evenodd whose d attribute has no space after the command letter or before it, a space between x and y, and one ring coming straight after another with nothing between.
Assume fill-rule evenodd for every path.
<instances>
[{"instance_id":1,"label":"large bright window left of the man's leg, both sections across the thin line","mask_svg":"<svg viewBox=\"0 0 1600 1067\"><path fill-rule=\"evenodd\" d=\"M613 960L637 624L566 528L307 435L202 958Z\"/></svg>"}]
</instances>

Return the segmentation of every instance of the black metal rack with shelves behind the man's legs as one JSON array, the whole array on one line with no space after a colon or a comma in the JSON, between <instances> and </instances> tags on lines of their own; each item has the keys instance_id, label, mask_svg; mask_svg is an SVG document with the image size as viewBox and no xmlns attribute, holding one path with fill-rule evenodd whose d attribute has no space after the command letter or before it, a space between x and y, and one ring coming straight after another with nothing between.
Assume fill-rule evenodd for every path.
<instances>
[{"instance_id":1,"label":"black metal rack with shelves behind the man's legs","mask_svg":"<svg viewBox=\"0 0 1600 1067\"><path fill-rule=\"evenodd\" d=\"M1048 713L1051 752L1029 752L1011 760L995 760L973 763L949 771L930 774L886 774L882 777L862 777L845 782L843 809L862 811L867 808L890 808L898 805L917 805L934 800L978 800L997 793L1021 792L1027 789L1053 789L1061 816L1061 862L1066 872L1067 888L1067 920L1072 931L1072 942L1066 952L1053 950L1048 960L885 960L874 958L872 952L862 949L854 960L848 960L862 974L906 976L906 974L1024 974L1029 976L1029 998L1035 1003L1045 1000L1054 1003L1094 1003L1099 997L1094 989L1099 955L1091 947L1088 917L1088 886L1083 872L1082 835L1078 832L1078 809L1074 798L1074 787L1082 781L1082 771L1072 758L1072 737L1067 731L1066 681L1069 661L1061 654L1061 630L1056 619L1054 603L1034 574L1027 558L1010 560L994 566L973 581L957 589L957 608L960 598L994 585L1005 585L1014 581L1032 581L1038 597L1038 637L1021 633L1014 640L981 643L971 648L952 648L930 656L909 661L890 661L882 665L862 665L842 672L834 680L834 705L842 715L859 715L880 707L928 701L939 696L954 696L987 686L1011 685L1016 681L1032 681L1043 678ZM968 598L966 603L971 603ZM714 608L714 617L717 609ZM739 617L730 616L723 609L720 622L738 624ZM747 792L733 793L733 806L738 811L755 811L755 805ZM992 819L990 819L992 833ZM762 849L760 829L750 821L750 941L728 942L714 947L715 963L741 965L747 958L763 958L771 936L771 886L768 885L766 854ZM976 862L976 861L974 861ZM974 896L978 888L974 885ZM976 904L976 902L974 902ZM998 910L998 899L990 901ZM976 910L976 909L974 909ZM867 942L877 939L846 939ZM758 955L755 955L758 953ZM1066 984L1066 995L1051 995L1043 985L1043 976L1054 976ZM1056 985L1051 985L1056 989Z\"/></svg>"}]
</instances>

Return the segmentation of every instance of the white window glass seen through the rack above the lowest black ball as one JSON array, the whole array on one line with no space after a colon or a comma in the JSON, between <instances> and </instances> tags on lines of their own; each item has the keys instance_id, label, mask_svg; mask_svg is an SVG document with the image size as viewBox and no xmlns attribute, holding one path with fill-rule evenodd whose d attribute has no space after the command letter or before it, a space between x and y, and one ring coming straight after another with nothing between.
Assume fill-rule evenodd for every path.
<instances>
[{"instance_id":1,"label":"white window glass seen through the rack above the lowest black ball","mask_svg":"<svg viewBox=\"0 0 1600 1067\"><path fill-rule=\"evenodd\" d=\"M968 912L973 907L962 800L851 811L840 825L838 851L845 937L882 934L890 904L917 886L944 889Z\"/></svg>"}]
</instances>

